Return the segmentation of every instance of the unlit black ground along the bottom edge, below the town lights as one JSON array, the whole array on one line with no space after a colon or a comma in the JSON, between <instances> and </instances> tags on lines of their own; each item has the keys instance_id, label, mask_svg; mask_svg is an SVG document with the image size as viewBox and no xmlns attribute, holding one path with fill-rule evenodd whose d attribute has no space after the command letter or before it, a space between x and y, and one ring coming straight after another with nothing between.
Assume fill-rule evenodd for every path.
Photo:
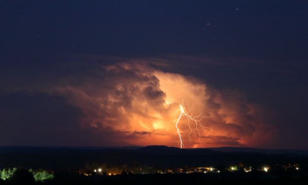
<instances>
[{"instance_id":1,"label":"unlit black ground along the bottom edge, below the town lights","mask_svg":"<svg viewBox=\"0 0 308 185\"><path fill-rule=\"evenodd\" d=\"M57 175L46 183L4 182L2 185L307 185L307 175L251 174L138 174L114 176Z\"/></svg>"}]
</instances>

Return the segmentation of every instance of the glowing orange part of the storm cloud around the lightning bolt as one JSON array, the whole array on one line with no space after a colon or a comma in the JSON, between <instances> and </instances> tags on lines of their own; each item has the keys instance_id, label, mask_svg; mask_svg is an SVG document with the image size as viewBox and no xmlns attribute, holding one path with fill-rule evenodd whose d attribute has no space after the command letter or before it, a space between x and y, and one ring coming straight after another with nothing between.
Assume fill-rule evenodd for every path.
<instances>
[{"instance_id":1,"label":"glowing orange part of the storm cloud around the lightning bolt","mask_svg":"<svg viewBox=\"0 0 308 185\"><path fill-rule=\"evenodd\" d=\"M104 68L99 80L55 90L83 110L81 125L94 129L102 142L180 148L256 142L260 124L240 92L216 90L197 78L138 62Z\"/></svg>"}]
</instances>

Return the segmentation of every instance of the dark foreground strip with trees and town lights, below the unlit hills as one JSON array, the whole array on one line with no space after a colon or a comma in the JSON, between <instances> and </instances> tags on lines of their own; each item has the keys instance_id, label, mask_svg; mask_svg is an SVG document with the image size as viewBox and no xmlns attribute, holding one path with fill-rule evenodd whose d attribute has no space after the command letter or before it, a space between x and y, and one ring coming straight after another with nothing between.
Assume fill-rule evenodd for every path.
<instances>
[{"instance_id":1,"label":"dark foreground strip with trees and town lights, below the unlit hills","mask_svg":"<svg viewBox=\"0 0 308 185\"><path fill-rule=\"evenodd\" d=\"M232 167L221 165L213 166L208 171L193 171L199 169L173 166L147 167L139 162L133 163L134 167L126 164L121 167L107 167L105 163L99 165L94 162L86 163L84 169L74 166L64 170L26 169L17 167L0 171L0 184L42 184L45 185L171 185L171 184L215 184L215 185L272 185L273 183L291 183L304 185L308 182L308 168L306 165L286 164L269 165L266 170L260 167L250 167L251 171L245 170L248 164L238 163ZM247 167L246 167L247 168ZM179 170L178 170L179 169ZM205 169L205 168L201 168ZM117 175L113 175L117 174Z\"/></svg>"}]
</instances>

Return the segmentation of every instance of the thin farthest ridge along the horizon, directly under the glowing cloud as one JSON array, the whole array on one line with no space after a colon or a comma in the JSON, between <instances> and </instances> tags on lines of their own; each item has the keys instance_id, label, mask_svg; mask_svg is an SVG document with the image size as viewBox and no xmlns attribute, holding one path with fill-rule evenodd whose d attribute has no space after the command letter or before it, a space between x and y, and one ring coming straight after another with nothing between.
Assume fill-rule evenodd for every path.
<instances>
[{"instance_id":1,"label":"thin farthest ridge along the horizon, directly under the glowing cloud","mask_svg":"<svg viewBox=\"0 0 308 185\"><path fill-rule=\"evenodd\" d=\"M127 146L127 147L0 147L0 154L53 154L53 153L139 153L139 154L284 154L287 156L308 156L305 150L270 150L244 147L220 147L220 148L197 148L180 149L167 146Z\"/></svg>"}]
</instances>

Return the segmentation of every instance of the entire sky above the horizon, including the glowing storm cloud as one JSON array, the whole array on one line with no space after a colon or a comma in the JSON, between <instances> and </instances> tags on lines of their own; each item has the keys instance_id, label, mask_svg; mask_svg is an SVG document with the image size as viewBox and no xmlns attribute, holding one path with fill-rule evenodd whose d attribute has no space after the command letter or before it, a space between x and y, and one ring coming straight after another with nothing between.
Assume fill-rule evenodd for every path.
<instances>
[{"instance_id":1,"label":"entire sky above the horizon, including the glowing storm cloud","mask_svg":"<svg viewBox=\"0 0 308 185\"><path fill-rule=\"evenodd\" d=\"M308 150L307 10L2 0L0 146L180 147L182 106L185 148Z\"/></svg>"}]
</instances>

